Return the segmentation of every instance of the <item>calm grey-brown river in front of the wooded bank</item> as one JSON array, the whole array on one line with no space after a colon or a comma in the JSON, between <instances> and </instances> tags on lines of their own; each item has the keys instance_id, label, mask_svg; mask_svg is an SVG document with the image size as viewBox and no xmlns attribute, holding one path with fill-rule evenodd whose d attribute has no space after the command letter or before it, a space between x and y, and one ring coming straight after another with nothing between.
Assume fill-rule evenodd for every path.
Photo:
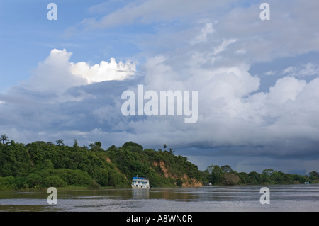
<instances>
[{"instance_id":1,"label":"calm grey-brown river in front of the wooded bank","mask_svg":"<svg viewBox=\"0 0 319 226\"><path fill-rule=\"evenodd\" d=\"M263 186L100 189L59 191L48 204L46 191L0 191L0 211L103 212L318 212L319 184L266 186L269 204L261 204Z\"/></svg>"}]
</instances>

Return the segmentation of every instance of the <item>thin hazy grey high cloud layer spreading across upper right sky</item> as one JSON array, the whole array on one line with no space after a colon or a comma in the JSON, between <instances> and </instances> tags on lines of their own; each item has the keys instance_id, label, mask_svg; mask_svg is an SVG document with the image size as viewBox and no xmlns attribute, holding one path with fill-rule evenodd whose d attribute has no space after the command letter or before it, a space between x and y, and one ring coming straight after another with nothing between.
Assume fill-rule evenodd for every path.
<instances>
[{"instance_id":1,"label":"thin hazy grey high cloud layer spreading across upper right sky","mask_svg":"<svg viewBox=\"0 0 319 226\"><path fill-rule=\"evenodd\" d=\"M230 2L237 7L232 7ZM148 50L152 49L152 46L159 45L160 50L174 49L175 51L177 43L191 43L191 46L182 46L181 50L186 52L193 47L197 48L201 54L208 50L211 53L215 52L216 55L223 52L221 56L228 58L225 61L228 65L236 62L249 64L271 62L276 58L319 50L319 35L316 32L318 26L315 23L318 13L313 10L319 7L318 2L308 1L305 4L299 0L285 0L268 3L272 13L270 21L260 20L260 3L251 3L249 6L242 7L240 1L213 1L213 3L212 1L186 1L185 3L184 1L183 4L180 1L165 4L155 0L134 1L134 4L128 4L122 9L109 13L100 21L94 21L94 25L108 28L118 23L150 24L171 22L174 18L178 18L177 28L165 27L166 30L163 29L163 31L159 29L162 26L159 26L159 31L155 31L154 35L146 35L145 39L140 38L140 43L150 43L147 45ZM182 9L185 7L185 10L179 8L179 11L175 11L178 4ZM223 10L218 11L218 9ZM161 13L154 13L154 11ZM175 11L175 14L172 11ZM133 20L126 20L127 17L123 16L125 13L132 16ZM208 21L207 18L210 20ZM202 21L205 21L203 26ZM218 23L211 21L218 21ZM201 25L199 29L198 24ZM182 28L184 33L181 32ZM183 35L179 36L177 33ZM232 43L231 52L225 51L225 47L230 43ZM157 54L163 53L157 52ZM221 59L225 60L223 57Z\"/></svg>"}]
</instances>

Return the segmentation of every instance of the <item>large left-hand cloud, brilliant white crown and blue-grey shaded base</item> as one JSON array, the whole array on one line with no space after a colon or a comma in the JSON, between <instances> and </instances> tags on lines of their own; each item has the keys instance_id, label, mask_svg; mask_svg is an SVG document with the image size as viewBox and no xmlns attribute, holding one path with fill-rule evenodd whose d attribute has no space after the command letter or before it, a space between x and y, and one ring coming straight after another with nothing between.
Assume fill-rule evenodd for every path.
<instances>
[{"instance_id":1,"label":"large left-hand cloud, brilliant white crown and blue-grey shaded base","mask_svg":"<svg viewBox=\"0 0 319 226\"><path fill-rule=\"evenodd\" d=\"M132 77L135 64L112 58L90 66L70 62L71 56L67 50L51 50L29 80L0 93L1 130L11 134L11 139L54 141L50 137L78 135L86 139L88 128L112 118L113 95L120 96L126 87L126 82L112 82ZM106 81L108 86L103 85Z\"/></svg>"}]
</instances>

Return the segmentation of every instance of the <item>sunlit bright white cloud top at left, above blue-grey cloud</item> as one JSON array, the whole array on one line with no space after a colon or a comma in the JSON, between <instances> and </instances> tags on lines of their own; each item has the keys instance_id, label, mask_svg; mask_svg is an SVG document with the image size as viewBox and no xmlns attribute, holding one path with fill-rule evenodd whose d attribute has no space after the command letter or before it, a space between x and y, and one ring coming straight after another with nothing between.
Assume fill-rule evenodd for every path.
<instances>
[{"instance_id":1,"label":"sunlit bright white cloud top at left, above blue-grey cloud","mask_svg":"<svg viewBox=\"0 0 319 226\"><path fill-rule=\"evenodd\" d=\"M33 76L26 82L31 89L65 90L72 86L81 86L94 82L123 80L135 72L135 64L130 61L110 62L90 66L86 62L70 62L72 52L53 49L50 55L40 62Z\"/></svg>"}]
</instances>

